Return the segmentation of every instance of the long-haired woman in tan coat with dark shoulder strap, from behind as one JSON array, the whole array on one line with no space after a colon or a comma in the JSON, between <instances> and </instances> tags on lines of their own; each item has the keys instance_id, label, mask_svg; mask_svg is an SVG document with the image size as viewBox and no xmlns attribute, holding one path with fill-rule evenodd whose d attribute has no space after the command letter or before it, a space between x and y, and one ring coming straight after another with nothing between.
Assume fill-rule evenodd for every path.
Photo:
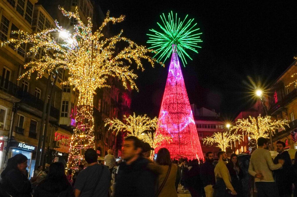
<instances>
[{"instance_id":1,"label":"long-haired woman in tan coat with dark shoulder strap, from behind","mask_svg":"<svg viewBox=\"0 0 297 197\"><path fill-rule=\"evenodd\" d=\"M177 197L175 180L177 166L171 162L168 149L161 148L158 151L156 163L159 165L158 188L156 197Z\"/></svg>"}]
</instances>

